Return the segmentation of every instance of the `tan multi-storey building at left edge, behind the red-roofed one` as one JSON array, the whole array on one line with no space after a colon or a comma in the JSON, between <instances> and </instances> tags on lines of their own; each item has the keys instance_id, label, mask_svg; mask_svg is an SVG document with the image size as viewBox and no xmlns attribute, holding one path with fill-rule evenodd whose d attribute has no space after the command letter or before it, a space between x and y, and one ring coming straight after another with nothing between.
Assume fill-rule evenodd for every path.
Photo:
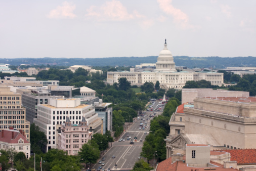
<instances>
[{"instance_id":1,"label":"tan multi-storey building at left edge, behind the red-roofed one","mask_svg":"<svg viewBox=\"0 0 256 171\"><path fill-rule=\"evenodd\" d=\"M11 92L9 87L0 87L0 130L9 130L10 127L22 130L29 141L30 123L21 102L20 94Z\"/></svg>"}]
</instances>

